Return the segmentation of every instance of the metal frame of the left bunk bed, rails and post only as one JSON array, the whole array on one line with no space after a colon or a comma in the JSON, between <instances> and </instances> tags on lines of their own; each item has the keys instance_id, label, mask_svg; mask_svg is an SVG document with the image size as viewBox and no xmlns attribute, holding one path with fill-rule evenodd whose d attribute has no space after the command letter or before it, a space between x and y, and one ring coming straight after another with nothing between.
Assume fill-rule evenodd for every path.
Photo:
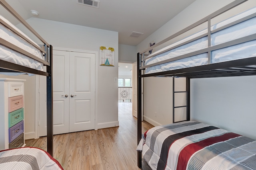
<instances>
[{"instance_id":1,"label":"metal frame of the left bunk bed, rails and post only","mask_svg":"<svg viewBox=\"0 0 256 170\"><path fill-rule=\"evenodd\" d=\"M38 39L40 39L40 41L44 43L42 48L39 50L44 53L45 61L31 55L30 53L24 51L23 49L20 49L19 47L16 47L15 45L12 45L11 43L8 43L4 39L0 38L1 45L8 47L9 49L12 49L14 51L17 51L18 53L21 53L23 55L26 55L27 57L35 59L36 61L39 61L46 66L46 72L43 72L40 70L28 68L26 66L21 66L18 64L1 60L0 72L24 72L24 73L47 76L47 80L46 80L46 83L47 83L47 97L46 97L47 98L47 152L51 156L53 156L52 45L49 45L5 0L0 0L0 4L4 8L6 8L6 10L8 10L8 12L10 12L10 14L12 14L18 21L20 21L20 23L22 23L30 32L32 32ZM0 20L0 22L3 23L4 21ZM8 25L6 25L6 27L8 27ZM10 27L8 28L11 29ZM26 39L26 37L24 37L20 33L16 32L13 29L11 30L16 34L18 34L23 39L31 43L30 40Z\"/></svg>"}]
</instances>

